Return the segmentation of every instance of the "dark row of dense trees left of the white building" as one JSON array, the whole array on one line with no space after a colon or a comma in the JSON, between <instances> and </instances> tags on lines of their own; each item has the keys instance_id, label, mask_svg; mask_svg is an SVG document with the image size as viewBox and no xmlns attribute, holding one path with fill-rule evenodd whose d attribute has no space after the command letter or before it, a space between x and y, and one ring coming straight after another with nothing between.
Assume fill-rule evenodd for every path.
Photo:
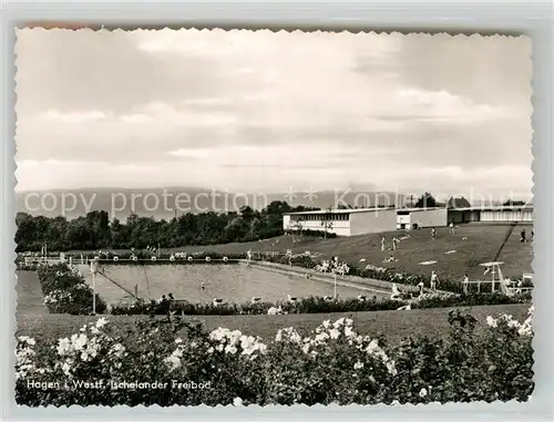
<instances>
[{"instance_id":1,"label":"dark row of dense trees left of the white building","mask_svg":"<svg viewBox=\"0 0 554 422\"><path fill-rule=\"evenodd\" d=\"M261 210L244 206L238 212L189 213L171 220L131 214L126 222L110 219L105 210L70 220L63 216L49 218L18 213L16 250L40 251L44 245L50 250L92 250L253 241L283 235L285 213L316 209L276 200Z\"/></svg>"}]
</instances>

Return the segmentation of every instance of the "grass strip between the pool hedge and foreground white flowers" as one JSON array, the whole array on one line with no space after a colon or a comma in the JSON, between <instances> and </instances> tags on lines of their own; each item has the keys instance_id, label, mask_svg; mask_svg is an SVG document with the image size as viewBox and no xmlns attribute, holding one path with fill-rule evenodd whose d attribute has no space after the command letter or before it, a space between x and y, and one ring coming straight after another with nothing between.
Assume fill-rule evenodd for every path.
<instances>
[{"instance_id":1,"label":"grass strip between the pool hedge and foreground white flowers","mask_svg":"<svg viewBox=\"0 0 554 422\"><path fill-rule=\"evenodd\" d=\"M496 317L500 313L510 313L522 321L525 319L527 305L505 305L466 308L484 327L488 316ZM185 317L188 320L201 321L209 329L225 327L240 330L245 334L260 336L271 340L279 328L295 327L305 334L319 326L324 320L337 320L341 317L351 318L358 332L363 334L386 333L387 341L397 343L402 338L418 333L428 336L444 336L450 309L416 309L410 311L378 311L378 312L348 312L348 313L302 313L283 316L203 316ZM147 316L109 316L112 323L121 333L126 333L137 320L147 319ZM18 317L18 336L31 336L37 340L58 339L79 332L86 322L96 318L88 316L68 315L21 315ZM184 334L184 333L183 333Z\"/></svg>"}]
</instances>

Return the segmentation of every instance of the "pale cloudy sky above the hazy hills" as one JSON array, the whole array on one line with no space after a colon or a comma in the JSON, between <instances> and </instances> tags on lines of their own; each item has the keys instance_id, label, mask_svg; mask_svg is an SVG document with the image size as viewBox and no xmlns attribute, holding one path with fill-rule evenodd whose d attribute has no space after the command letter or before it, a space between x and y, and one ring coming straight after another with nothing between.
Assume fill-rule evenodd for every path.
<instances>
[{"instance_id":1,"label":"pale cloudy sky above the hazy hills","mask_svg":"<svg viewBox=\"0 0 554 422\"><path fill-rule=\"evenodd\" d=\"M526 38L20 30L18 191L530 193Z\"/></svg>"}]
</instances>

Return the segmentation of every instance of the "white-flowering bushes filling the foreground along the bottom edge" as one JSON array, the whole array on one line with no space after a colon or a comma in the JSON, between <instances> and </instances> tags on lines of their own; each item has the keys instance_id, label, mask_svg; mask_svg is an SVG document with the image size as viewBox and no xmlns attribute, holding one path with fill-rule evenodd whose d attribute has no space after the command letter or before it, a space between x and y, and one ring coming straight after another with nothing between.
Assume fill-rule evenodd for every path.
<instances>
[{"instance_id":1,"label":"white-flowering bushes filling the foreground along the bottom edge","mask_svg":"<svg viewBox=\"0 0 554 422\"><path fill-rule=\"evenodd\" d=\"M532 322L510 321L489 319L478 332L473 317L451 311L447 337L388 346L345 318L306 337L281 329L267 343L181 318L140 321L120 337L101 318L55 342L20 337L16 399L24 405L525 401L534 387Z\"/></svg>"}]
</instances>

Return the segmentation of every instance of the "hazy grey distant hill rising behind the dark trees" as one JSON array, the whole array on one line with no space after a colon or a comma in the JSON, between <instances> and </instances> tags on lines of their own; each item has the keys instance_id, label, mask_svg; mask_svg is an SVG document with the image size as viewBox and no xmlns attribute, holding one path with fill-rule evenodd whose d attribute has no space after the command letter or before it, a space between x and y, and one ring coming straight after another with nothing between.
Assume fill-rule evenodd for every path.
<instances>
[{"instance_id":1,"label":"hazy grey distant hill rising behind the dark trees","mask_svg":"<svg viewBox=\"0 0 554 422\"><path fill-rule=\"evenodd\" d=\"M290 194L236 194L202 187L160 188L82 188L18 192L17 212L55 217L75 218L91 210L107 210L110 217L125 219L130 214L168 219L175 215L193 213L226 213L244 205L261 209L274 200L291 206L315 208L371 207L403 203L402 195L390 192L298 192Z\"/></svg>"}]
</instances>

